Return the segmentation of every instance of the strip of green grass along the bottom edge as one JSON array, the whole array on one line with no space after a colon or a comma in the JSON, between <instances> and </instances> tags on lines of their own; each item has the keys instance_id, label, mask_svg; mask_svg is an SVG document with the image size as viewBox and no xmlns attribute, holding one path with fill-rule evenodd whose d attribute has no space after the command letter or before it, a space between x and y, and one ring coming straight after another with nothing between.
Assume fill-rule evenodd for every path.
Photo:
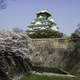
<instances>
[{"instance_id":1,"label":"strip of green grass along the bottom edge","mask_svg":"<svg viewBox=\"0 0 80 80\"><path fill-rule=\"evenodd\" d=\"M66 78L66 77L55 77L55 76L30 74L30 75L25 75L20 80L76 80L76 79L72 79L70 77Z\"/></svg>"}]
</instances>

